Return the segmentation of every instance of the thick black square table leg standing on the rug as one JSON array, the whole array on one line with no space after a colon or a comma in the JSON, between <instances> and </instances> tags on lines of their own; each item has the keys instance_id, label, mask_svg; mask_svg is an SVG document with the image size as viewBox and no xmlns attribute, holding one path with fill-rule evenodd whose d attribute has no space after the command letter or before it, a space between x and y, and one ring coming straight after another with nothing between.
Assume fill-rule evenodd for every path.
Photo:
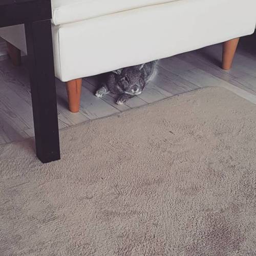
<instances>
[{"instance_id":1,"label":"thick black square table leg standing on the rug","mask_svg":"<svg viewBox=\"0 0 256 256\"><path fill-rule=\"evenodd\" d=\"M36 155L43 163L60 159L50 20L25 24Z\"/></svg>"}]
</instances>

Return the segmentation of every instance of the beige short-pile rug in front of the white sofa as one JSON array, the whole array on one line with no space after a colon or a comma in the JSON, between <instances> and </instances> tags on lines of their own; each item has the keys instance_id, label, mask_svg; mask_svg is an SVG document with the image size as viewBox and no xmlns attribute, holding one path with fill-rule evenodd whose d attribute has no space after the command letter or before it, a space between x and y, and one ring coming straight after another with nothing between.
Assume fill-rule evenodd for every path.
<instances>
[{"instance_id":1,"label":"beige short-pile rug in front of the white sofa","mask_svg":"<svg viewBox=\"0 0 256 256\"><path fill-rule=\"evenodd\" d=\"M0 255L255 255L256 105L206 88L0 148Z\"/></svg>"}]
</instances>

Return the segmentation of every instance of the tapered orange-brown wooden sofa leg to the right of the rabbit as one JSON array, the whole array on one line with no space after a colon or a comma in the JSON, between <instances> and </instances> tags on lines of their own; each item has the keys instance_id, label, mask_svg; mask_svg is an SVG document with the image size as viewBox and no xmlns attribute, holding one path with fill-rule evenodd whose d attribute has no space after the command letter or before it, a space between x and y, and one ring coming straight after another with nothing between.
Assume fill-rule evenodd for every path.
<instances>
[{"instance_id":1,"label":"tapered orange-brown wooden sofa leg to the right of the rabbit","mask_svg":"<svg viewBox=\"0 0 256 256\"><path fill-rule=\"evenodd\" d=\"M232 66L239 39L240 38L235 38L223 43L222 68L225 70L229 70Z\"/></svg>"}]
</instances>

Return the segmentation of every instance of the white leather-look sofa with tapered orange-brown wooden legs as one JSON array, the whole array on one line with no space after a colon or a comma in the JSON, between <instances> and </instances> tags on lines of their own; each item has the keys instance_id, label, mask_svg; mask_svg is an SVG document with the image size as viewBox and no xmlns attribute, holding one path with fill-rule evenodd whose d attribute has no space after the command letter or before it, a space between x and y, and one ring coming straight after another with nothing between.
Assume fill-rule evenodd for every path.
<instances>
[{"instance_id":1,"label":"white leather-look sofa with tapered orange-brown wooden legs","mask_svg":"<svg viewBox=\"0 0 256 256\"><path fill-rule=\"evenodd\" d=\"M251 34L255 9L255 0L52 0L55 75L72 94L81 77ZM0 36L26 52L23 25Z\"/></svg>"}]
</instances>

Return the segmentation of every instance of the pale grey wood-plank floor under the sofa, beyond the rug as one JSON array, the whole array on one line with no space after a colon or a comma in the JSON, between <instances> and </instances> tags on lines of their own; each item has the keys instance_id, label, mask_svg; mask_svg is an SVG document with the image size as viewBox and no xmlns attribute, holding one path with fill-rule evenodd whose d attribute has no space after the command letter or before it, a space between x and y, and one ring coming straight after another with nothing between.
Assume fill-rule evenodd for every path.
<instances>
[{"instance_id":1,"label":"pale grey wood-plank floor under the sofa, beyond the rug","mask_svg":"<svg viewBox=\"0 0 256 256\"><path fill-rule=\"evenodd\" d=\"M68 111L65 84L56 79L59 128L208 86L224 87L256 104L256 34L241 40L230 71L220 68L221 51L215 45L160 60L154 81L123 106L115 104L114 95L93 95L99 76L83 78L77 114ZM0 40L0 60L0 144L5 144L33 136L33 118L26 57L22 67L13 67Z\"/></svg>"}]
</instances>

